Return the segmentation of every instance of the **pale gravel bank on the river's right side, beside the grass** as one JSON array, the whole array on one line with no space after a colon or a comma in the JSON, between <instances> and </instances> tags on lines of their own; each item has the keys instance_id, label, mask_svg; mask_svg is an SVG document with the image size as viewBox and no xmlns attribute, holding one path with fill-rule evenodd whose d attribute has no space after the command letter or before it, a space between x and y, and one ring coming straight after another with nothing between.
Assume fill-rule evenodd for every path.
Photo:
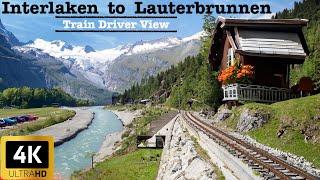
<instances>
[{"instance_id":1,"label":"pale gravel bank on the river's right side, beside the grass","mask_svg":"<svg viewBox=\"0 0 320 180\"><path fill-rule=\"evenodd\" d=\"M120 132L115 132L112 134L108 134L105 137L105 140L103 141L99 151L96 153L96 156L94 157L94 162L102 162L109 156L111 156L121 144L122 141L122 134L127 131L127 127L129 124L133 122L133 120L141 115L141 110L135 110L135 111L118 111L118 110L110 110L112 113L114 113L118 120L122 122L122 125L124 126L124 129Z\"/></svg>"}]
</instances>

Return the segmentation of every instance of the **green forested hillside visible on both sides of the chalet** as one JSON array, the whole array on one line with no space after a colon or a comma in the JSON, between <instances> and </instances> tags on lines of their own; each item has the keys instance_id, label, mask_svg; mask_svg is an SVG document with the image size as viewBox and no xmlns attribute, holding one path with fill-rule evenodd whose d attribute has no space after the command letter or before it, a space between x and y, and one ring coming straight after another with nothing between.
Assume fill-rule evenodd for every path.
<instances>
[{"instance_id":1,"label":"green forested hillside visible on both sides of the chalet","mask_svg":"<svg viewBox=\"0 0 320 180\"><path fill-rule=\"evenodd\" d=\"M303 65L296 66L291 72L291 85L301 77L311 77L320 90L320 1L303 0L296 2L293 9L285 9L276 14L278 19L308 19L309 24L304 34L309 46L310 55ZM142 80L141 84L132 86L120 96L126 100L160 99L169 105L186 106L186 102L195 99L202 105L217 106L220 90L216 82L217 72L210 70L206 61L211 41L210 32L214 28L214 18L205 17L203 29L207 36L202 39L201 53L196 57L188 57L184 62L169 70Z\"/></svg>"}]
</instances>

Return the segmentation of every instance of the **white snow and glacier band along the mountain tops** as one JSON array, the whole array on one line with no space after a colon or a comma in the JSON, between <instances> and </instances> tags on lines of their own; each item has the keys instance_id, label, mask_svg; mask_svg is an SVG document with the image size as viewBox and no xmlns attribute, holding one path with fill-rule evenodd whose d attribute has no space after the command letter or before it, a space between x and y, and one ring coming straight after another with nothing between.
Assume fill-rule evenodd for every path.
<instances>
[{"instance_id":1,"label":"white snow and glacier band along the mountain tops","mask_svg":"<svg viewBox=\"0 0 320 180\"><path fill-rule=\"evenodd\" d=\"M189 41L200 40L202 34L203 32L200 32L183 39L174 37L153 41L141 41L135 44L122 45L101 51L96 51L91 46L74 46L61 40L50 42L43 39L36 39L24 46L18 46L15 48L20 52L25 52L30 49L38 49L56 58L74 59L76 65L83 70L88 70L92 67L98 67L102 64L112 62L121 55L130 56L134 54L149 53L159 49L169 49Z\"/></svg>"}]
</instances>

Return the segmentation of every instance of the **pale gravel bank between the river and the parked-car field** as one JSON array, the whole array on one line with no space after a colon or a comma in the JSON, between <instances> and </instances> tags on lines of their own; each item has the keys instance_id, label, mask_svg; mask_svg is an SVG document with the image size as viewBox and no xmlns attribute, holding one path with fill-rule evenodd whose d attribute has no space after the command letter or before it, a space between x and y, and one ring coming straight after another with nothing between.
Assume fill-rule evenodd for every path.
<instances>
[{"instance_id":1,"label":"pale gravel bank between the river and the parked-car field","mask_svg":"<svg viewBox=\"0 0 320 180\"><path fill-rule=\"evenodd\" d=\"M77 136L78 133L87 129L94 119L94 114L87 108L68 108L76 112L76 115L62 123L41 129L32 133L39 136L53 136L54 145L59 146Z\"/></svg>"}]
</instances>

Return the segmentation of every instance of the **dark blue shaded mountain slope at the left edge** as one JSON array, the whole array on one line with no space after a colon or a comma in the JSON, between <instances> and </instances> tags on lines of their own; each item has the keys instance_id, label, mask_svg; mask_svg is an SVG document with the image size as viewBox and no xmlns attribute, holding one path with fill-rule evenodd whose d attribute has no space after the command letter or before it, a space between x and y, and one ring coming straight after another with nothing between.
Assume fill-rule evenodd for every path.
<instances>
[{"instance_id":1,"label":"dark blue shaded mountain slope at the left edge","mask_svg":"<svg viewBox=\"0 0 320 180\"><path fill-rule=\"evenodd\" d=\"M22 43L0 21L0 90L22 86L59 87L77 98L90 99L96 104L110 102L110 91L97 87L81 73L71 72L61 60L39 50L17 51L16 47L20 46Z\"/></svg>"}]
</instances>

